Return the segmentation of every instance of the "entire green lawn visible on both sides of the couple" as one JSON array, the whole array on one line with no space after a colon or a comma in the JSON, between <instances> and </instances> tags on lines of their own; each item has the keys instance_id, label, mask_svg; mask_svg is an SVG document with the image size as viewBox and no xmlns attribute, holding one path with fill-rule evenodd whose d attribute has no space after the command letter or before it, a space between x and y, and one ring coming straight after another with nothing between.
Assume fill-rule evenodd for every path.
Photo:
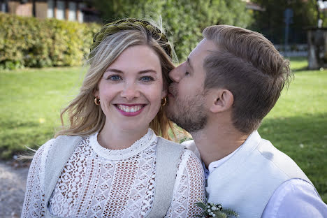
<instances>
[{"instance_id":1,"label":"entire green lawn visible on both sides of the couple","mask_svg":"<svg viewBox=\"0 0 327 218\"><path fill-rule=\"evenodd\" d=\"M259 133L298 163L327 202L327 71L307 71L306 66L305 59L292 59L294 80ZM59 112L78 92L83 71L0 71L2 159L52 138L60 126Z\"/></svg>"}]
</instances>

